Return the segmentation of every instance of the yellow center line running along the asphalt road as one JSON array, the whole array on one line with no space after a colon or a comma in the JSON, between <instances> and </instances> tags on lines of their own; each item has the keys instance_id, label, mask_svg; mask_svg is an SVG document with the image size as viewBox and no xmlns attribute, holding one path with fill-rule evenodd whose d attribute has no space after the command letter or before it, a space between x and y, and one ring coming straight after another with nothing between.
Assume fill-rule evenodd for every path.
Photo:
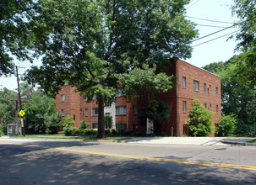
<instances>
[{"instance_id":1,"label":"yellow center line running along the asphalt road","mask_svg":"<svg viewBox=\"0 0 256 185\"><path fill-rule=\"evenodd\" d=\"M23 145L23 144L3 143L3 142L0 142L0 144L3 144L3 145L5 145L5 144L6 145ZM255 170L256 171L256 166L231 165L231 164L222 164L222 163L215 163L215 162L203 162L203 161L185 161L185 160L155 158L155 157L148 157L148 156L128 156L128 155L122 155L122 154L111 154L111 153L104 153L104 152L97 152L97 151L80 151L80 150L74 150L74 149L56 148L56 147L48 147L48 146L41 146L41 145L24 145L24 146L53 149L53 150L57 150L57 151L74 151L74 152L79 152L79 153L94 154L94 155L101 155L101 156L117 156L117 157L147 160L147 161L166 161L166 162L175 162L175 163L182 163L182 164L229 167L229 168L246 169L246 170Z\"/></svg>"}]
</instances>

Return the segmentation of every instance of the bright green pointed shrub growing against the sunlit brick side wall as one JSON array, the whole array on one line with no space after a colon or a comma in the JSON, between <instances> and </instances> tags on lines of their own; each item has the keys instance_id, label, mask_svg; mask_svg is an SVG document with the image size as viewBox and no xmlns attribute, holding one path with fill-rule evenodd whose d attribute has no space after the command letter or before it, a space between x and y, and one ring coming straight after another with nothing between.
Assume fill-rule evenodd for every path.
<instances>
[{"instance_id":1,"label":"bright green pointed shrub growing against the sunlit brick side wall","mask_svg":"<svg viewBox=\"0 0 256 185\"><path fill-rule=\"evenodd\" d=\"M210 120L213 112L204 108L199 99L194 98L193 108L189 110L189 133L193 136L209 136L213 132Z\"/></svg>"}]
</instances>

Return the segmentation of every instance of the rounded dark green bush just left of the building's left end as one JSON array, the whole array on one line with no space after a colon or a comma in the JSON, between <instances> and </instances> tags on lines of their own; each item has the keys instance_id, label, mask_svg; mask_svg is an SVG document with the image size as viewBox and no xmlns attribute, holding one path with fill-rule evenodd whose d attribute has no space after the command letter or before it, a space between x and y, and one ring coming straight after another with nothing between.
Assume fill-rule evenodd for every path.
<instances>
[{"instance_id":1,"label":"rounded dark green bush just left of the building's left end","mask_svg":"<svg viewBox=\"0 0 256 185\"><path fill-rule=\"evenodd\" d=\"M46 114L45 117L46 124L46 135L57 134L58 129L62 126L61 114L54 113L52 115Z\"/></svg>"}]
</instances>

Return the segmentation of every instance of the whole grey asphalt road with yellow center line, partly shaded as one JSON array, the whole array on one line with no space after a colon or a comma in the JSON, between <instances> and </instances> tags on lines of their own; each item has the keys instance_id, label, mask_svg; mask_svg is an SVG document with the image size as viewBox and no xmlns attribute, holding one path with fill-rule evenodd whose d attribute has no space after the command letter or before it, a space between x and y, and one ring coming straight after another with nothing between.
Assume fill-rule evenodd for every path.
<instances>
[{"instance_id":1,"label":"whole grey asphalt road with yellow center line, partly shaded","mask_svg":"<svg viewBox=\"0 0 256 185\"><path fill-rule=\"evenodd\" d=\"M256 147L0 140L0 184L256 184Z\"/></svg>"}]
</instances>

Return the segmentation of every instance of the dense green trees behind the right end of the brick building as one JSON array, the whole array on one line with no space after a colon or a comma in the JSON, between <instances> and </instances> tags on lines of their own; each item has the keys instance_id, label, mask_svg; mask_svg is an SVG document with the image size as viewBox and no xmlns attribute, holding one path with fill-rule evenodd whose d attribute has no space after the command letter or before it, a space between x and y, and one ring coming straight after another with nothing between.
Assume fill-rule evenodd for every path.
<instances>
[{"instance_id":1,"label":"dense green trees behind the right end of the brick building","mask_svg":"<svg viewBox=\"0 0 256 185\"><path fill-rule=\"evenodd\" d=\"M244 72L250 72L246 61L243 61L244 53L233 56L229 61L214 63L215 69L211 69L212 64L204 66L221 76L221 100L222 112L226 115L236 114L238 119L235 133L247 135L248 129L253 127L256 121L256 89L252 80L244 76Z\"/></svg>"}]
</instances>

